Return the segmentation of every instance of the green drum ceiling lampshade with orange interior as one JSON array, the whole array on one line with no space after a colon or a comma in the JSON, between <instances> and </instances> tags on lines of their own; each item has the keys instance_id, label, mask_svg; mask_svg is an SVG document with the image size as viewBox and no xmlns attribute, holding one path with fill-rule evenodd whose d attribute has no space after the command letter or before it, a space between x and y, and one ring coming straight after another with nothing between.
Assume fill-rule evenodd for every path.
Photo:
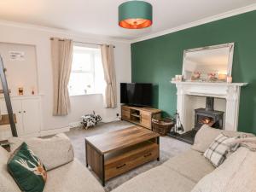
<instances>
[{"instance_id":1,"label":"green drum ceiling lampshade with orange interior","mask_svg":"<svg viewBox=\"0 0 256 192\"><path fill-rule=\"evenodd\" d=\"M142 29L152 25L152 5L143 1L129 1L119 5L119 26Z\"/></svg>"}]
</instances>

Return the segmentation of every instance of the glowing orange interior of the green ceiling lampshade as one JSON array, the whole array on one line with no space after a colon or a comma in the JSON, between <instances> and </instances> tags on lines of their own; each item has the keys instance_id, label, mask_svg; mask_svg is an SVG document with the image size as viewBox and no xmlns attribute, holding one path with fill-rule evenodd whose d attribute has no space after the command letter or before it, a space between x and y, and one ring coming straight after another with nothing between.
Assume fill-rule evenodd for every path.
<instances>
[{"instance_id":1,"label":"glowing orange interior of the green ceiling lampshade","mask_svg":"<svg viewBox=\"0 0 256 192\"><path fill-rule=\"evenodd\" d=\"M145 19L127 19L119 21L119 26L128 29L142 29L151 25L152 21Z\"/></svg>"}]
</instances>

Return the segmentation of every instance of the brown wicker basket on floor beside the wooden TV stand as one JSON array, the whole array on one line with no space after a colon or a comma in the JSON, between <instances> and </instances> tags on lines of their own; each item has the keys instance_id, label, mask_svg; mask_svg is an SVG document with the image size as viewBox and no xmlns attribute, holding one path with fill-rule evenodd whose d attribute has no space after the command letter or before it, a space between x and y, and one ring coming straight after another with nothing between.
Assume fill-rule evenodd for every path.
<instances>
[{"instance_id":1,"label":"brown wicker basket on floor beside the wooden TV stand","mask_svg":"<svg viewBox=\"0 0 256 192\"><path fill-rule=\"evenodd\" d=\"M160 136L166 136L171 131L174 122L172 119L152 119L152 130L160 134Z\"/></svg>"}]
</instances>

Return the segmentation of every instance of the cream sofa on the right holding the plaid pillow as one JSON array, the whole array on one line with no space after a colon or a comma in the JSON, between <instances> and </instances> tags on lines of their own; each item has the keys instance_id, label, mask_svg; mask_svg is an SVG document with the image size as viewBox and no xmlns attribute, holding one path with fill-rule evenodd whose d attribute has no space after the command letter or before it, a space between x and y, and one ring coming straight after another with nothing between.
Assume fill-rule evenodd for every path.
<instances>
[{"instance_id":1,"label":"cream sofa on the right holding the plaid pillow","mask_svg":"<svg viewBox=\"0 0 256 192\"><path fill-rule=\"evenodd\" d=\"M220 132L203 126L191 149L133 177L113 192L255 192L256 152L238 148L216 169L202 155ZM235 137L245 133L224 134Z\"/></svg>"}]
</instances>

